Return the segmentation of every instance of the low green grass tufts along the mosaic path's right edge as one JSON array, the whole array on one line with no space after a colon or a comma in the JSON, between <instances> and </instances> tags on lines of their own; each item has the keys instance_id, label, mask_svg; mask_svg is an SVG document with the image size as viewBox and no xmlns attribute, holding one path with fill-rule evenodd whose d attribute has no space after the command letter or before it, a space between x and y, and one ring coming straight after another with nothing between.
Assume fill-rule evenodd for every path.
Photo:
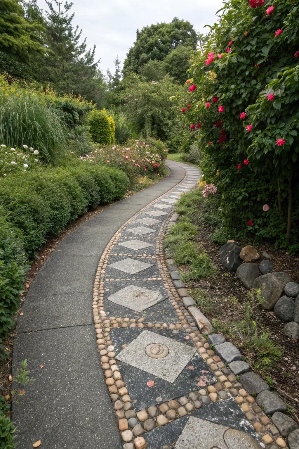
<instances>
[{"instance_id":1,"label":"low green grass tufts along the mosaic path's right edge","mask_svg":"<svg viewBox=\"0 0 299 449\"><path fill-rule=\"evenodd\" d=\"M172 255L175 264L184 265L188 270L181 273L185 282L209 278L216 273L207 253L194 241L197 226L192 221L201 201L202 195L198 189L181 196L176 206L180 218L171 226L164 239L165 251Z\"/></svg>"}]
</instances>

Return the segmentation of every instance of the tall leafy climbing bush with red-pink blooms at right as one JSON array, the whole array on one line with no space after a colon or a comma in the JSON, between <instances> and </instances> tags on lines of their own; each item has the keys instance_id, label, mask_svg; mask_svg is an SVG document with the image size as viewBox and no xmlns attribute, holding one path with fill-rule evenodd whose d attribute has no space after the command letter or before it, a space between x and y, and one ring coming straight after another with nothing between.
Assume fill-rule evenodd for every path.
<instances>
[{"instance_id":1,"label":"tall leafy climbing bush with red-pink blooms at right","mask_svg":"<svg viewBox=\"0 0 299 449\"><path fill-rule=\"evenodd\" d=\"M217 185L223 229L296 253L299 6L232 0L221 14L190 67L184 132L199 142L204 179Z\"/></svg>"}]
</instances>

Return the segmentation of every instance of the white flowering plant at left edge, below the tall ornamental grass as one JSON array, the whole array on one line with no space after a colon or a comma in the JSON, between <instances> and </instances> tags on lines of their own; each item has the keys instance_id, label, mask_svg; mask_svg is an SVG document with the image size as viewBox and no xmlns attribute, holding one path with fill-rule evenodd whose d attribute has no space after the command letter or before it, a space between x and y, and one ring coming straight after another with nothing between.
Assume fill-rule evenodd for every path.
<instances>
[{"instance_id":1,"label":"white flowering plant at left edge, below the tall ornamental grass","mask_svg":"<svg viewBox=\"0 0 299 449\"><path fill-rule=\"evenodd\" d=\"M40 164L39 151L28 145L23 145L22 148L6 146L4 143L0 145L0 178L16 172L25 175Z\"/></svg>"}]
</instances>

